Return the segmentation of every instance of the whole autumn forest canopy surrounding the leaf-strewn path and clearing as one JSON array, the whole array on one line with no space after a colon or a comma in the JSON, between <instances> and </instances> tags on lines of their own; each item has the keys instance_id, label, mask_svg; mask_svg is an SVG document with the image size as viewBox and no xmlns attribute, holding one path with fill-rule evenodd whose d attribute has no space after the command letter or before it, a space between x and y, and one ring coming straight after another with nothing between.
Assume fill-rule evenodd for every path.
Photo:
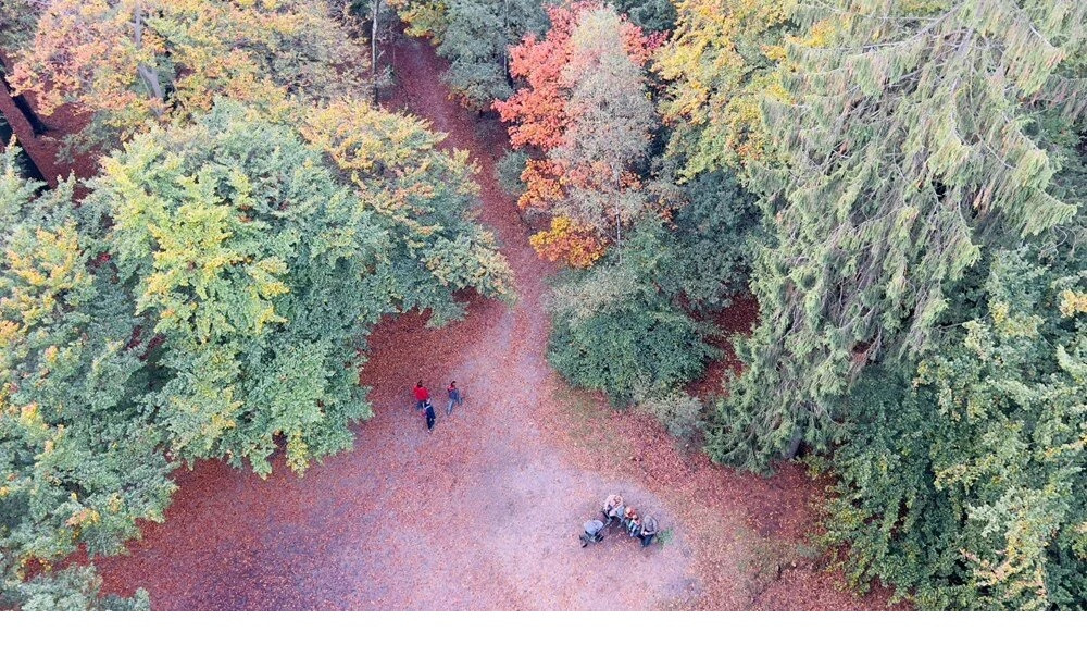
<instances>
[{"instance_id":1,"label":"whole autumn forest canopy surrounding the leaf-strewn path and clearing","mask_svg":"<svg viewBox=\"0 0 1087 657\"><path fill-rule=\"evenodd\" d=\"M802 459L859 590L1087 608L1082 0L0 0L12 91L100 156L3 153L0 607L146 608L73 555L182 464L351 449L382 318L515 301L485 169L373 101L390 9L509 137L559 375Z\"/></svg>"}]
</instances>

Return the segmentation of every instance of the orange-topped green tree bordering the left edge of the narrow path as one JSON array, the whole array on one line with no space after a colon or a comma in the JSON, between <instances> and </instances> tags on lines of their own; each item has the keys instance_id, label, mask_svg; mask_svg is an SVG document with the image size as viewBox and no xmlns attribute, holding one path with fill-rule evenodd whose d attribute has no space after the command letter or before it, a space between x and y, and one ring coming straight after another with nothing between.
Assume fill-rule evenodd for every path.
<instances>
[{"instance_id":1,"label":"orange-topped green tree bordering the left edge of the narrow path","mask_svg":"<svg viewBox=\"0 0 1087 657\"><path fill-rule=\"evenodd\" d=\"M454 290L513 301L513 271L476 222L479 187L467 151L447 153L445 135L426 122L357 101L312 110L301 132L388 224L398 311L428 310L430 324L441 325L463 317Z\"/></svg>"}]
</instances>

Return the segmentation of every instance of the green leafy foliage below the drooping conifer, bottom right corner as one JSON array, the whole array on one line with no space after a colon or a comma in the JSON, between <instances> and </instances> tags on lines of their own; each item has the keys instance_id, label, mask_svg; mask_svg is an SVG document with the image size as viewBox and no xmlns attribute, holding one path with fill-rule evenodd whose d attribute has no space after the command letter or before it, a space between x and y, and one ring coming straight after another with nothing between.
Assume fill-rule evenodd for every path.
<instances>
[{"instance_id":1,"label":"green leafy foliage below the drooping conifer, bottom right corner","mask_svg":"<svg viewBox=\"0 0 1087 657\"><path fill-rule=\"evenodd\" d=\"M850 396L826 540L855 582L924 608L1087 604L1087 270L1030 260L996 255L979 315L912 382L878 367Z\"/></svg>"}]
</instances>

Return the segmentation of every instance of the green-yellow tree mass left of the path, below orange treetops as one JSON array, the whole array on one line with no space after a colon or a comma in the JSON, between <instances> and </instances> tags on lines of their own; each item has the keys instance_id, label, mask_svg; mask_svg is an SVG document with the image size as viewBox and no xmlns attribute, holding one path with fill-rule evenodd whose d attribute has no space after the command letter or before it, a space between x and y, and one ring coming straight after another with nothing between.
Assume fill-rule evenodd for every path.
<instances>
[{"instance_id":1,"label":"green-yellow tree mass left of the path, below orange treetops","mask_svg":"<svg viewBox=\"0 0 1087 657\"><path fill-rule=\"evenodd\" d=\"M511 296L509 265L473 222L463 153L363 104L314 111L303 132L314 145L223 101L134 137L78 206L72 183L36 196L7 157L8 604L122 605L98 600L92 570L49 569L161 521L167 455L266 475L282 447L302 473L350 448L350 424L372 414L358 370L378 319L447 322L467 287Z\"/></svg>"}]
</instances>

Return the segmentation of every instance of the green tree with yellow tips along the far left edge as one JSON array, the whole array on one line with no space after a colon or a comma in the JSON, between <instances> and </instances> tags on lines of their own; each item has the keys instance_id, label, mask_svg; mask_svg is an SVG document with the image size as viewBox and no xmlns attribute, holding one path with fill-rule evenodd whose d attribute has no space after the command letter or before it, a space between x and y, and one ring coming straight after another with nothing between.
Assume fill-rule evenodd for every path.
<instances>
[{"instance_id":1,"label":"green tree with yellow tips along the far left edge","mask_svg":"<svg viewBox=\"0 0 1087 657\"><path fill-rule=\"evenodd\" d=\"M99 599L92 569L55 563L86 545L116 554L137 520L163 521L175 489L139 392L146 323L88 253L74 181L40 189L2 157L0 215L0 607L146 607Z\"/></svg>"}]
</instances>

